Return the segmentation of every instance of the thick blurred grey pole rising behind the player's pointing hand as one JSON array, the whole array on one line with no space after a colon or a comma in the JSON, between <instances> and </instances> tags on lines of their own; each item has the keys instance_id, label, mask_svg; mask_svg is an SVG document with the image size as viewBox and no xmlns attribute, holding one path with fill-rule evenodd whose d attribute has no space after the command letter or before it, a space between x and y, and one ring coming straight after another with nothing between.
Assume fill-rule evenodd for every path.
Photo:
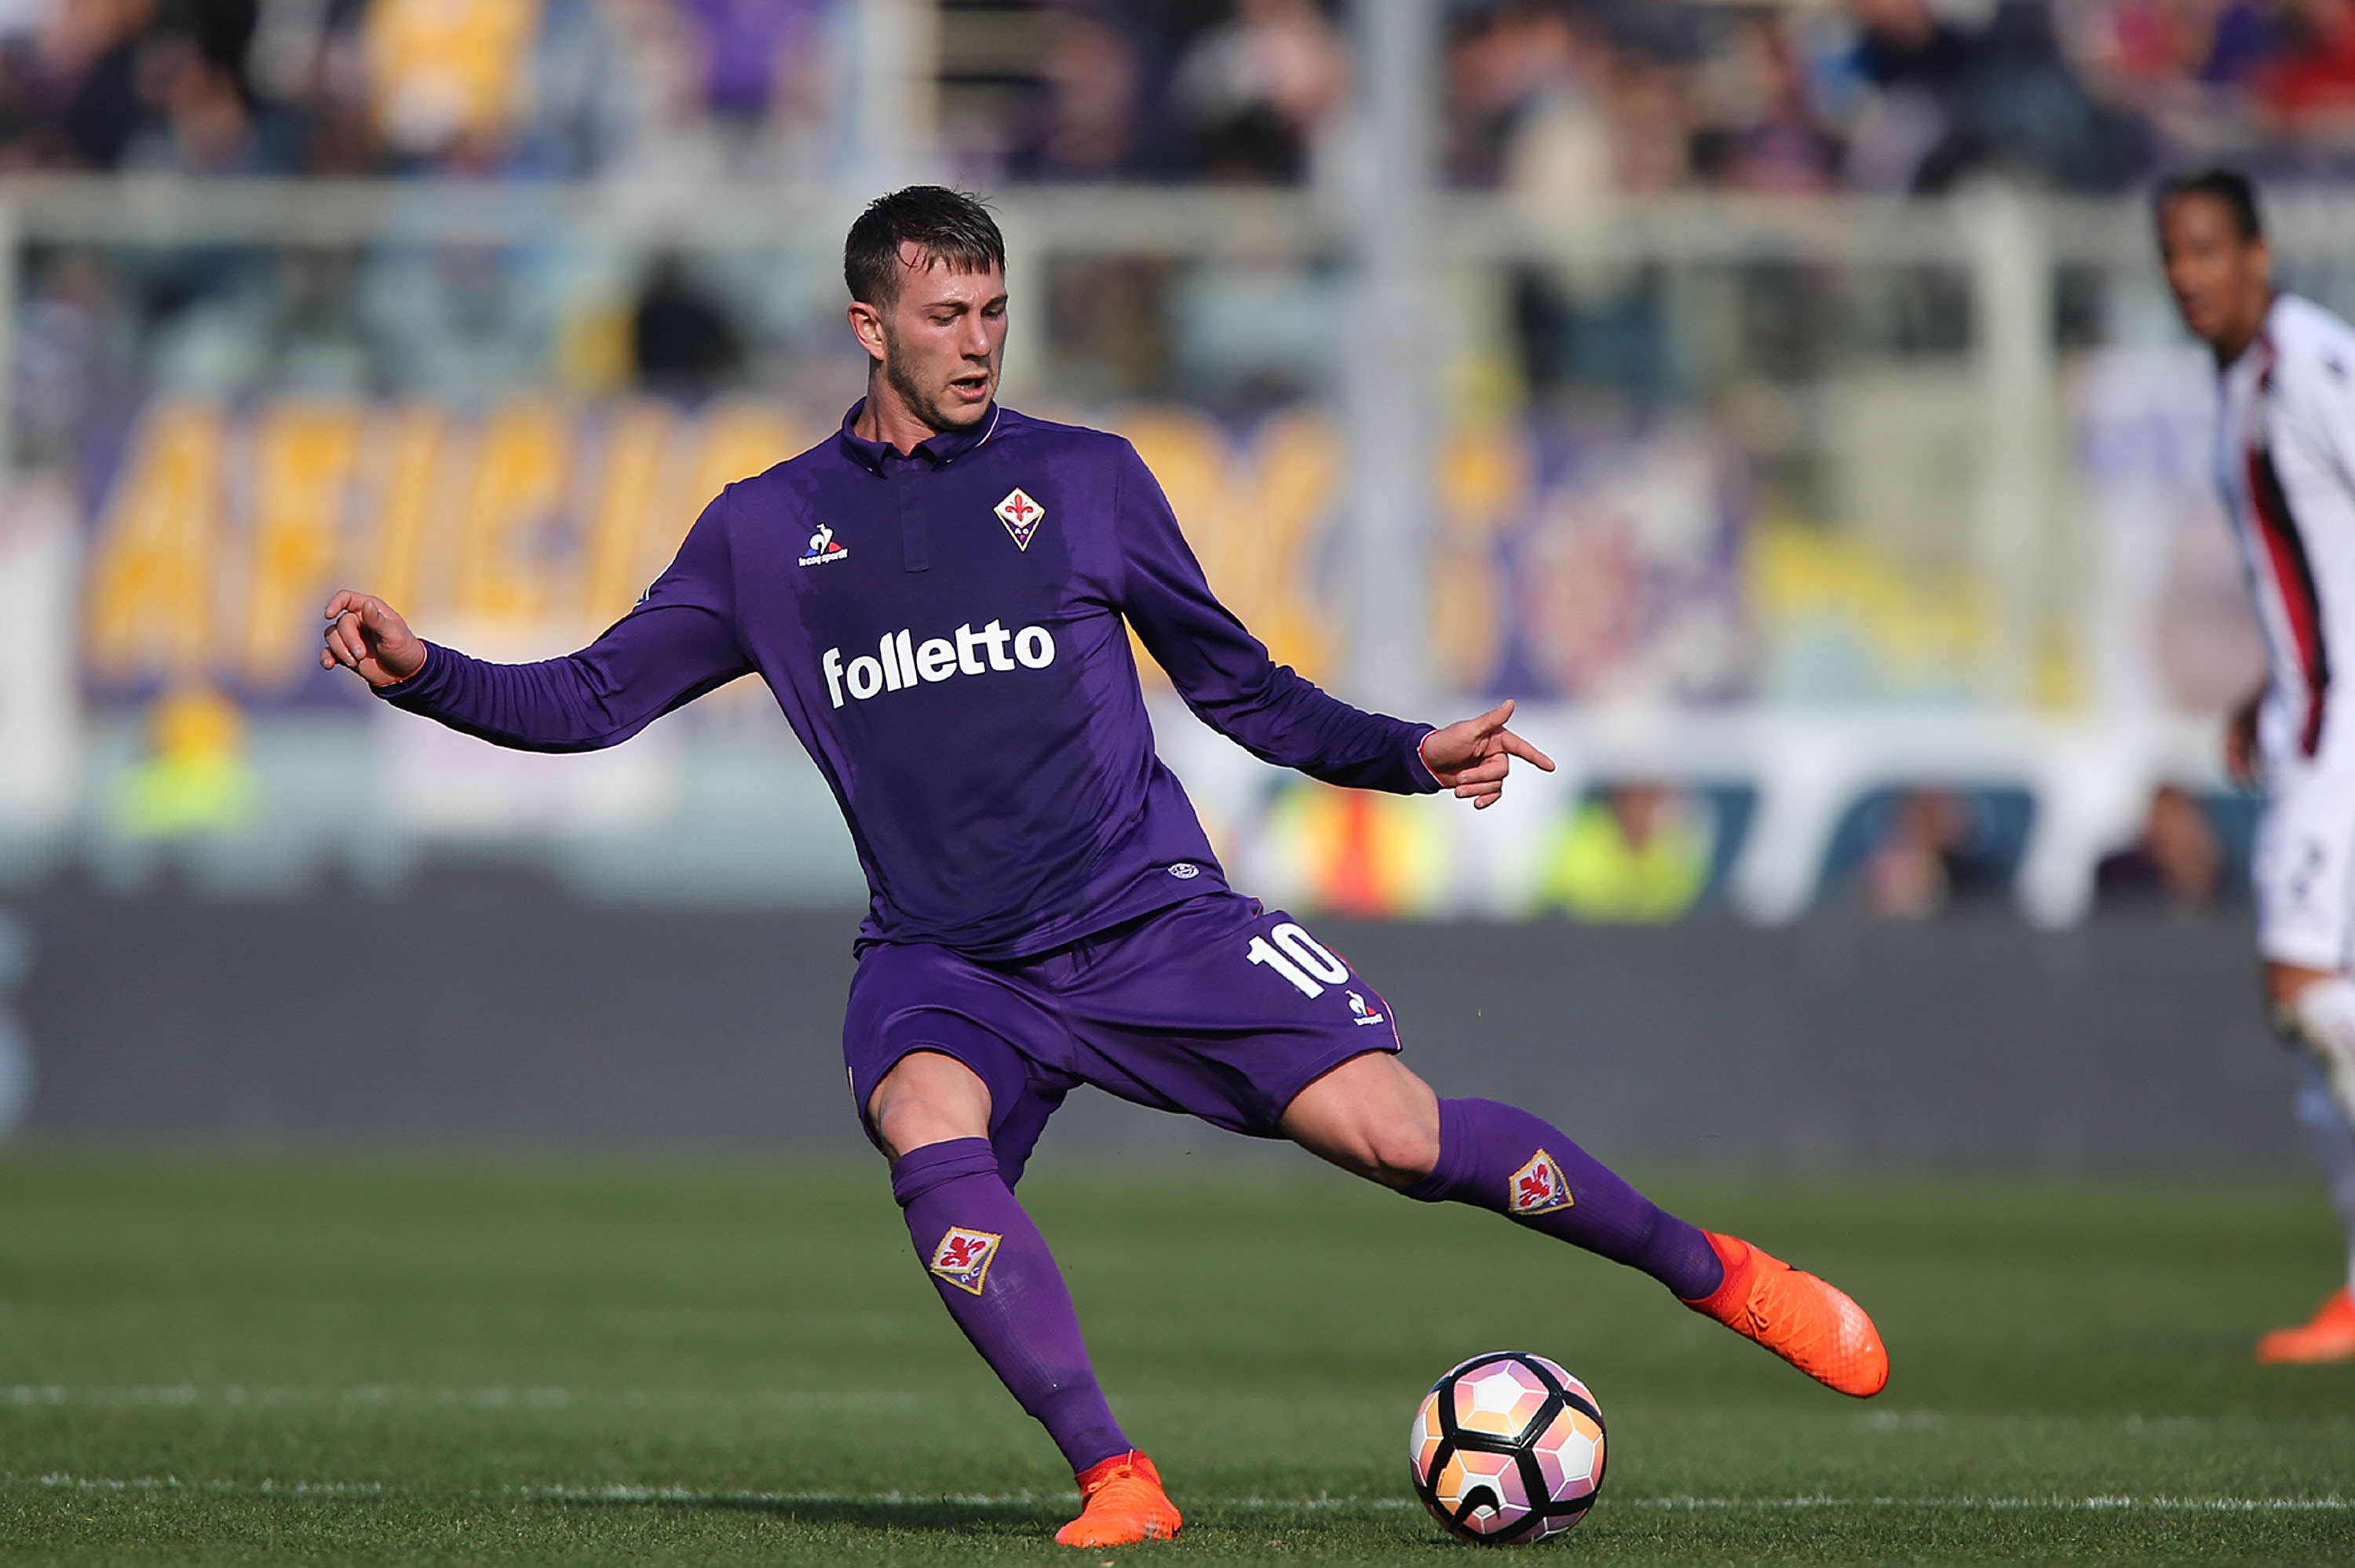
<instances>
[{"instance_id":1,"label":"thick blurred grey pole rising behind the player's pointing hand","mask_svg":"<svg viewBox=\"0 0 2355 1568\"><path fill-rule=\"evenodd\" d=\"M1347 687L1413 713L1429 687L1425 542L1432 520L1432 271L1439 7L1356 0L1359 99L1342 165L1356 259L1342 344L1347 497Z\"/></svg>"}]
</instances>

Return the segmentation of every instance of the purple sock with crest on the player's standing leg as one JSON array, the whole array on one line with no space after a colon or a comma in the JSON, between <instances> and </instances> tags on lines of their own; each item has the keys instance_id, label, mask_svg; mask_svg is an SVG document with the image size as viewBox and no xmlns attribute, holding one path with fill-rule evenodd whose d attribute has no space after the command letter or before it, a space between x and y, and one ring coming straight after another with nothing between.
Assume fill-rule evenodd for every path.
<instances>
[{"instance_id":1,"label":"purple sock with crest on the player's standing leg","mask_svg":"<svg viewBox=\"0 0 2355 1568\"><path fill-rule=\"evenodd\" d=\"M1128 1453L1079 1337L1079 1314L1046 1238L1022 1212L987 1137L900 1156L890 1196L949 1316L1079 1474Z\"/></svg>"}]
</instances>

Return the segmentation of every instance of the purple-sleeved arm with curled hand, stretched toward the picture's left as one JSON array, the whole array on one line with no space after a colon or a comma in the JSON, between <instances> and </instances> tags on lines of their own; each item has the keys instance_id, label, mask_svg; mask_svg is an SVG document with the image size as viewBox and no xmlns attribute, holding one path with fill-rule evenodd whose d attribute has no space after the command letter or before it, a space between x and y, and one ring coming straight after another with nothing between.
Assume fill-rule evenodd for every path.
<instances>
[{"instance_id":1,"label":"purple-sleeved arm with curled hand, stretched toward the picture's left","mask_svg":"<svg viewBox=\"0 0 2355 1568\"><path fill-rule=\"evenodd\" d=\"M327 600L320 666L358 673L398 709L516 751L596 751L751 669L735 638L718 501L636 610L589 647L490 664L426 643L370 593Z\"/></svg>"}]
</instances>

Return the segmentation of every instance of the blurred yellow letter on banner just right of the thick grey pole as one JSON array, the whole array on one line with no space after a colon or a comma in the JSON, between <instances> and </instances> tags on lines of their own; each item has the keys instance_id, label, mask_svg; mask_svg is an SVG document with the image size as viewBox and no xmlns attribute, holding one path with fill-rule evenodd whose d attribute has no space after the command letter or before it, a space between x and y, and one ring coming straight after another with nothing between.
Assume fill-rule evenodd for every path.
<instances>
[{"instance_id":1,"label":"blurred yellow letter on banner just right of the thick grey pole","mask_svg":"<svg viewBox=\"0 0 2355 1568\"><path fill-rule=\"evenodd\" d=\"M1528 436L1465 426L1439 447L1439 537L1432 542L1432 657L1451 685L1479 690L1505 636L1495 534L1528 506Z\"/></svg>"}]
</instances>

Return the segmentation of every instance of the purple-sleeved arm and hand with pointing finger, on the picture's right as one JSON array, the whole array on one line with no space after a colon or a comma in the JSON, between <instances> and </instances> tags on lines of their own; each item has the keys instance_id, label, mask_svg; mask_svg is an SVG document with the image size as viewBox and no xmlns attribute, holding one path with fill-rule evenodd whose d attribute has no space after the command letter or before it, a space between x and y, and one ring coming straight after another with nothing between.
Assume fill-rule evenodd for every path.
<instances>
[{"instance_id":1,"label":"purple-sleeved arm and hand with pointing finger, on the picture's right","mask_svg":"<svg viewBox=\"0 0 2355 1568\"><path fill-rule=\"evenodd\" d=\"M1453 789L1488 805L1512 758L1552 760L1505 727L1512 704L1446 730L1366 713L1324 692L1218 603L1168 497L1145 461L1121 454L1114 499L1121 534L1121 612L1206 725L1253 756L1326 784L1429 793Z\"/></svg>"}]
</instances>

